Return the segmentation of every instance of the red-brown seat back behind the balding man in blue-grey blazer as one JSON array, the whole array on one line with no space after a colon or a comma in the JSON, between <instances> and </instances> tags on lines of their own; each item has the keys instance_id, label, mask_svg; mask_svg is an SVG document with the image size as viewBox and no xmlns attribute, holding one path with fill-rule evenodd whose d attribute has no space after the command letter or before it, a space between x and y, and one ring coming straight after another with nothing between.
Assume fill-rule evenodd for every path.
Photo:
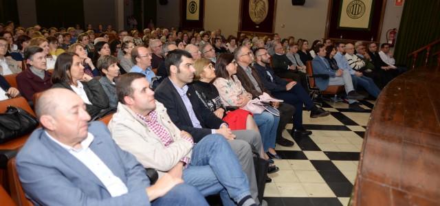
<instances>
[{"instance_id":1,"label":"red-brown seat back behind the balding man in blue-grey blazer","mask_svg":"<svg viewBox=\"0 0 440 206\"><path fill-rule=\"evenodd\" d=\"M31 201L25 196L23 187L21 187L21 182L19 179L19 174L17 172L17 167L15 165L15 157L8 161L8 179L9 179L9 190L12 200L19 206L32 206Z\"/></svg>"}]
</instances>

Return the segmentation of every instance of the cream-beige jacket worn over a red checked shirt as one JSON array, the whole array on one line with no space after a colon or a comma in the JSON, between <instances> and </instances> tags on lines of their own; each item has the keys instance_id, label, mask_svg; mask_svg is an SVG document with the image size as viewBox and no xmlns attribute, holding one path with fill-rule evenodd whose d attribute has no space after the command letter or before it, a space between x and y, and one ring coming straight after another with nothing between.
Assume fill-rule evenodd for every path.
<instances>
[{"instance_id":1,"label":"cream-beige jacket worn over a red checked shirt","mask_svg":"<svg viewBox=\"0 0 440 206\"><path fill-rule=\"evenodd\" d=\"M109 122L109 130L122 150L133 154L144 168L155 168L161 176L183 157L191 157L192 144L181 138L180 130L171 122L165 106L157 101L156 111L157 121L168 130L174 140L167 148L140 117L121 103Z\"/></svg>"}]
</instances>

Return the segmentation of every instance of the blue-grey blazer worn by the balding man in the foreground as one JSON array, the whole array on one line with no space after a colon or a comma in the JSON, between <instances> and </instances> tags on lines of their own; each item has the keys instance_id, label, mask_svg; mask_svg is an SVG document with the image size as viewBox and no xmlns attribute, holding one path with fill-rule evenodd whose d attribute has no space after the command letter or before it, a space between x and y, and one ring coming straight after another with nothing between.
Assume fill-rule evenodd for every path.
<instances>
[{"instance_id":1,"label":"blue-grey blazer worn by the balding man in the foreground","mask_svg":"<svg viewBox=\"0 0 440 206\"><path fill-rule=\"evenodd\" d=\"M34 130L17 155L23 190L34 205L150 205L150 181L142 165L111 139L107 126L91 122L89 148L126 185L128 193L112 198L97 176L65 148Z\"/></svg>"}]
</instances>

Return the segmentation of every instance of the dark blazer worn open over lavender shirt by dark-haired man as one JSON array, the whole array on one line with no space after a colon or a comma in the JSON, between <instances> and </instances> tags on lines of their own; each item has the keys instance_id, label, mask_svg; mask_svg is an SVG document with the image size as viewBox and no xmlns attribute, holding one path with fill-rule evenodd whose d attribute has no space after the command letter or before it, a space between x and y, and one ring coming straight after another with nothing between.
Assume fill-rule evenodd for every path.
<instances>
[{"instance_id":1,"label":"dark blazer worn open over lavender shirt by dark-haired man","mask_svg":"<svg viewBox=\"0 0 440 206\"><path fill-rule=\"evenodd\" d=\"M190 115L186 111L184 101L181 100L179 93L173 86L170 78L165 78L162 83L155 89L155 99L166 107L166 112L170 116L171 121L181 130L185 130L192 135L195 142L200 141L206 135L212 133L211 129L218 129L221 124L225 123L212 113L203 102L197 97L194 87L188 84L188 98L192 104L197 119L199 119L202 128L192 126Z\"/></svg>"}]
</instances>

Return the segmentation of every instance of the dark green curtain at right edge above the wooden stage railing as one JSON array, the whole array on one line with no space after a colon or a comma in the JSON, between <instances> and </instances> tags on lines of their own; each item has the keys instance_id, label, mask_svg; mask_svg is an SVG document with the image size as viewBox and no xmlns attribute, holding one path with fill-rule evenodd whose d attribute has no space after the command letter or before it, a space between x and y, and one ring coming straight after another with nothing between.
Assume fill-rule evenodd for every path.
<instances>
[{"instance_id":1,"label":"dark green curtain at right edge above the wooden stage railing","mask_svg":"<svg viewBox=\"0 0 440 206\"><path fill-rule=\"evenodd\" d=\"M410 67L412 59L408 54L440 38L440 1L406 0L397 33L395 59L397 65ZM430 54L439 51L440 44ZM416 67L423 65L426 52L419 53ZM434 58L430 59L434 64Z\"/></svg>"}]
</instances>

